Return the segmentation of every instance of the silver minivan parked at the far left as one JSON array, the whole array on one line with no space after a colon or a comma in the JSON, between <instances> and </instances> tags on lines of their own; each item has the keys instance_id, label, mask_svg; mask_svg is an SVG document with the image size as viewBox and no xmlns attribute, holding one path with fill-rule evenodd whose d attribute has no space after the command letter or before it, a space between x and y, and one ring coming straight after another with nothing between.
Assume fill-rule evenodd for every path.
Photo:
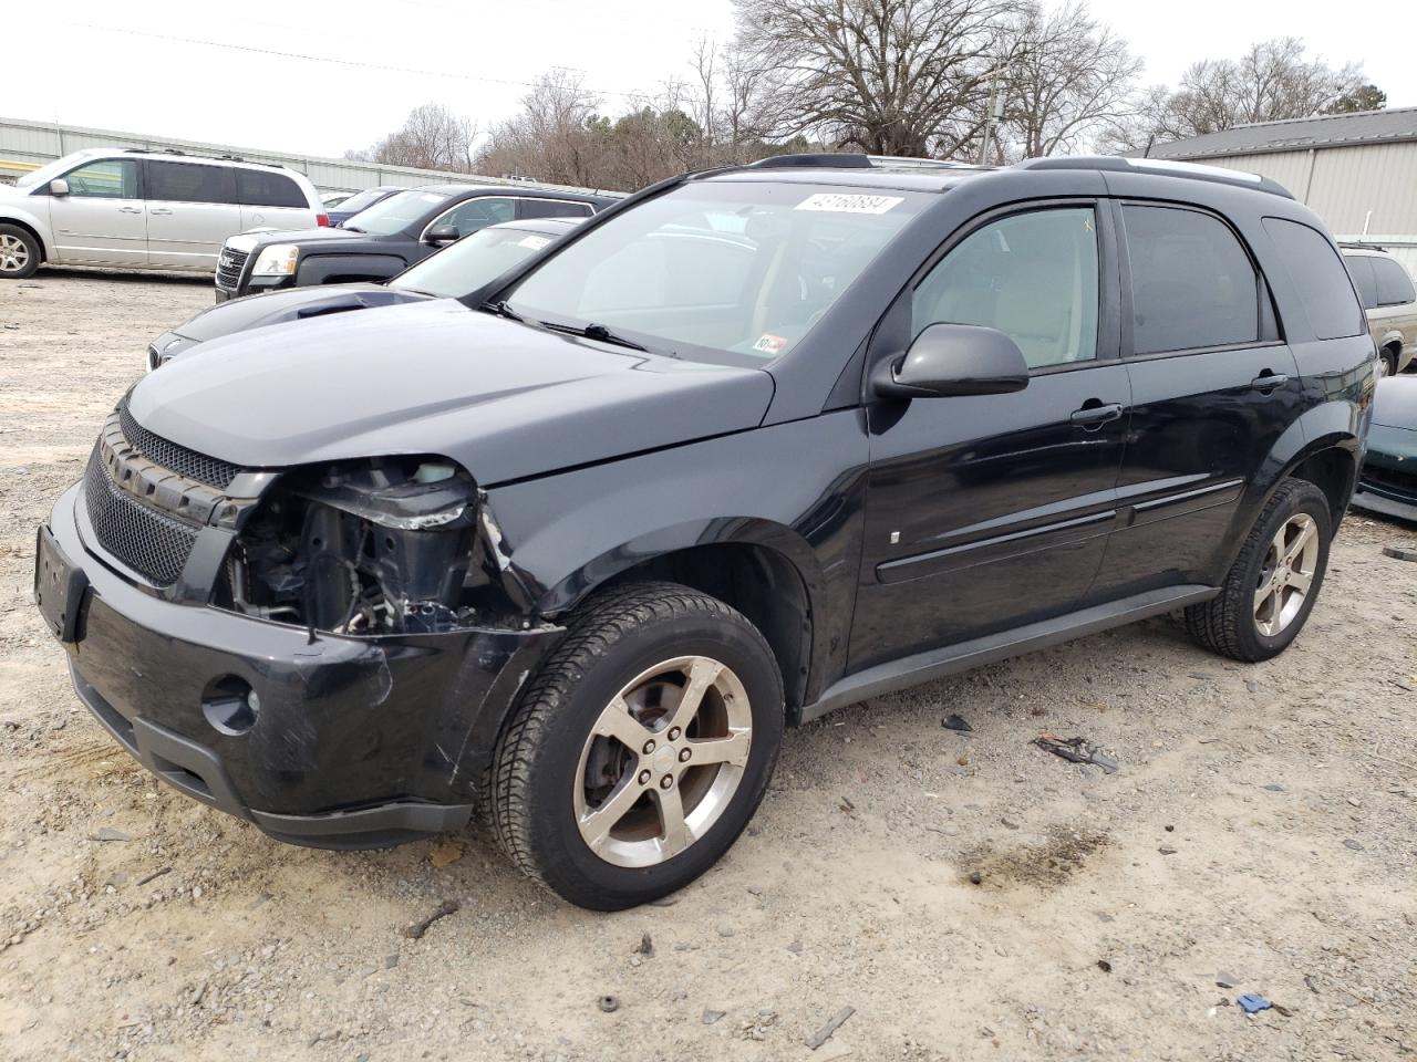
<instances>
[{"instance_id":1,"label":"silver minivan parked at the far left","mask_svg":"<svg viewBox=\"0 0 1417 1062\"><path fill-rule=\"evenodd\" d=\"M0 187L0 279L48 265L211 272L227 236L326 225L282 166L181 152L85 150Z\"/></svg>"}]
</instances>

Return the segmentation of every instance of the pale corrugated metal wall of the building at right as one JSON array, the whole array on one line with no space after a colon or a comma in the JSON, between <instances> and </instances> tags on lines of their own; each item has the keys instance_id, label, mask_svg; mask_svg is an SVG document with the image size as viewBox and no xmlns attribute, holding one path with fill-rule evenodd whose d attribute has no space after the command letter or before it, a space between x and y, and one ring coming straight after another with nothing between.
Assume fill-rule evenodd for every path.
<instances>
[{"instance_id":1,"label":"pale corrugated metal wall of the building at right","mask_svg":"<svg viewBox=\"0 0 1417 1062\"><path fill-rule=\"evenodd\" d=\"M1197 161L1272 177L1323 218L1338 239L1380 244L1417 276L1417 143L1265 152Z\"/></svg>"}]
</instances>

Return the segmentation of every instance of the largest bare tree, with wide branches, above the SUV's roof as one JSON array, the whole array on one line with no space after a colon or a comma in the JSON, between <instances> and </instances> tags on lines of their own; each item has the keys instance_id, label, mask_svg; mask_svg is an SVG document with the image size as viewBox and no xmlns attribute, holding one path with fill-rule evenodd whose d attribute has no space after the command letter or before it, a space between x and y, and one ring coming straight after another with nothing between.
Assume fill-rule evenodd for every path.
<instances>
[{"instance_id":1,"label":"largest bare tree, with wide branches, above the SUV's roof","mask_svg":"<svg viewBox=\"0 0 1417 1062\"><path fill-rule=\"evenodd\" d=\"M1017 0L735 0L757 125L879 154L951 156L1017 58Z\"/></svg>"}]
</instances>

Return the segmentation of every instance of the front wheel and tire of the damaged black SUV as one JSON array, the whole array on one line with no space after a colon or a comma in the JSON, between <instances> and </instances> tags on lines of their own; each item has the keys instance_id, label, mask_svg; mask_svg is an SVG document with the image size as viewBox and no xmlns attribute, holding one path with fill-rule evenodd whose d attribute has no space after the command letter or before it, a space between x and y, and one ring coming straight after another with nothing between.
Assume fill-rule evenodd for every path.
<instances>
[{"instance_id":1,"label":"front wheel and tire of the damaged black SUV","mask_svg":"<svg viewBox=\"0 0 1417 1062\"><path fill-rule=\"evenodd\" d=\"M582 908L683 888L728 851L782 741L782 678L737 610L677 583L591 599L497 742L485 813L512 861Z\"/></svg>"}]
</instances>

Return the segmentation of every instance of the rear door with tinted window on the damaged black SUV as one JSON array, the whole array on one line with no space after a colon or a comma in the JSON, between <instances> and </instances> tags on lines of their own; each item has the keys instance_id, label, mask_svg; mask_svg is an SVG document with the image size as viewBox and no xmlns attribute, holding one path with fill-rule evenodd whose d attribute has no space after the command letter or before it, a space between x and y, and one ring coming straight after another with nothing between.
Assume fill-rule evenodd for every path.
<instances>
[{"instance_id":1,"label":"rear door with tinted window on the damaged black SUV","mask_svg":"<svg viewBox=\"0 0 1417 1062\"><path fill-rule=\"evenodd\" d=\"M1132 423L1094 596L1213 585L1247 486L1304 409L1255 256L1219 214L1114 204Z\"/></svg>"}]
</instances>

